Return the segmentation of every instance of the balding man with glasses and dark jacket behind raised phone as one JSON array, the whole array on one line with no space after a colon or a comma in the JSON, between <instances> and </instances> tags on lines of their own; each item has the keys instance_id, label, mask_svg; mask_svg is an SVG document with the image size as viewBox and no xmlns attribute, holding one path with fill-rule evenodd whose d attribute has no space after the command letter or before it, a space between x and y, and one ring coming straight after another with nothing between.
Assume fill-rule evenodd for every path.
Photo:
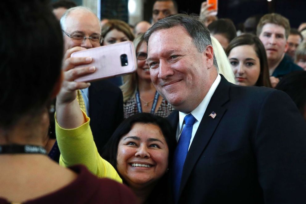
<instances>
[{"instance_id":1,"label":"balding man with glasses and dark jacket behind raised phone","mask_svg":"<svg viewBox=\"0 0 306 204\"><path fill-rule=\"evenodd\" d=\"M68 9L60 23L66 51L64 59L69 58L72 52L100 47L102 40L100 21L88 8L77 6ZM100 37L100 40L90 38L94 36ZM101 154L104 145L123 120L122 92L107 80L92 82L89 88L79 87L79 91L85 103L84 110L91 118L93 138ZM58 148L55 145L51 150L51 157L58 161L57 153Z\"/></svg>"}]
</instances>

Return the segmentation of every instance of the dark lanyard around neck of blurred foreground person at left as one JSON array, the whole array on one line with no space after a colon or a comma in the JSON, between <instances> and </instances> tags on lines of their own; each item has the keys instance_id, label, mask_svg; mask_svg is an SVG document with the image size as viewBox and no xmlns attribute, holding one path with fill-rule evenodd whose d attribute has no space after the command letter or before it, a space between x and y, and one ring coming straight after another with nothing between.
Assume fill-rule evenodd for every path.
<instances>
[{"instance_id":1,"label":"dark lanyard around neck of blurred foreground person at left","mask_svg":"<svg viewBox=\"0 0 306 204\"><path fill-rule=\"evenodd\" d=\"M37 145L19 145L8 144L0 145L0 154L46 154L46 150L42 146Z\"/></svg>"}]
</instances>

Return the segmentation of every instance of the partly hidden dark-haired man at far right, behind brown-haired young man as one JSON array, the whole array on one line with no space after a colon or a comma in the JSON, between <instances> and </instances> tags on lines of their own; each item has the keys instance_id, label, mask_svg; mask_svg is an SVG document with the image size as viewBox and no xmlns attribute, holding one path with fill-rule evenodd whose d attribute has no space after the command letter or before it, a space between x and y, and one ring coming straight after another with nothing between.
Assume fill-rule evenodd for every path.
<instances>
[{"instance_id":1,"label":"partly hidden dark-haired man at far right, behind brown-haired young man","mask_svg":"<svg viewBox=\"0 0 306 204\"><path fill-rule=\"evenodd\" d=\"M298 30L291 28L287 39L288 49L286 54L289 55L292 60L294 60L296 55L296 48L301 44L302 41L303 35Z\"/></svg>"}]
</instances>

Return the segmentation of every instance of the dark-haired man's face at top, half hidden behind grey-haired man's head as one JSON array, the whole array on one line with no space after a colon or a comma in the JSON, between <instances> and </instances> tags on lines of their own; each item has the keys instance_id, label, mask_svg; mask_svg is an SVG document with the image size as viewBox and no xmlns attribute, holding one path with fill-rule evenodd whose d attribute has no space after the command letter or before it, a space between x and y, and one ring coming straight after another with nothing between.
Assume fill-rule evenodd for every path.
<instances>
[{"instance_id":1,"label":"dark-haired man's face at top, half hidden behind grey-haired man's head","mask_svg":"<svg viewBox=\"0 0 306 204\"><path fill-rule=\"evenodd\" d=\"M178 7L175 0L156 0L152 8L152 25L160 19L177 13Z\"/></svg>"}]
</instances>

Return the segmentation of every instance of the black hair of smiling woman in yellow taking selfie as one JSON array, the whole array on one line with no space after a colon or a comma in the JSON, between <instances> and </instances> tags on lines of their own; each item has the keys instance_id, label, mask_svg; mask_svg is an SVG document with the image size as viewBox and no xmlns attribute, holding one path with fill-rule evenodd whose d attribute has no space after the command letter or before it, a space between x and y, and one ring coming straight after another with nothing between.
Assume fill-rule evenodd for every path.
<instances>
[{"instance_id":1,"label":"black hair of smiling woman in yellow taking selfie","mask_svg":"<svg viewBox=\"0 0 306 204\"><path fill-rule=\"evenodd\" d=\"M107 144L105 145L102 157L110 162L112 166L117 170L117 151L120 139L126 135L132 129L135 123L145 123L157 125L163 133L163 136L167 142L169 149L169 164L171 166L171 161L173 157L174 148L176 145L175 131L172 130L170 123L157 115L150 113L137 113L127 119L125 119L115 130L114 134L111 136Z\"/></svg>"}]
</instances>

